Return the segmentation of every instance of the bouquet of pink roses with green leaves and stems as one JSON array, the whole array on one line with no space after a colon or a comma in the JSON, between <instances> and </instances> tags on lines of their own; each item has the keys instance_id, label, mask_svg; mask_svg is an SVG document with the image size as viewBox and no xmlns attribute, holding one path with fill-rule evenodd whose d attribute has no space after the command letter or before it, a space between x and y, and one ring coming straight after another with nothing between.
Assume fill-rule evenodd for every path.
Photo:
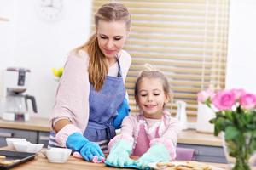
<instances>
[{"instance_id":1,"label":"bouquet of pink roses with green leaves and stems","mask_svg":"<svg viewBox=\"0 0 256 170\"><path fill-rule=\"evenodd\" d=\"M236 158L233 170L249 170L249 158L256 151L256 95L244 89L207 89L198 94L198 101L215 112L210 123L215 136L224 132L229 155Z\"/></svg>"}]
</instances>

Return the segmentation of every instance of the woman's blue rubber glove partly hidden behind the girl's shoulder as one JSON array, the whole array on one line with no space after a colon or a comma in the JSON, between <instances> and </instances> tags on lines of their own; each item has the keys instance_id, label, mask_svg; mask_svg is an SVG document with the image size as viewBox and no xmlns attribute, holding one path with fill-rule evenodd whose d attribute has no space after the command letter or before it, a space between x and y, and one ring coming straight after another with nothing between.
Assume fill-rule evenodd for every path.
<instances>
[{"instance_id":1,"label":"woman's blue rubber glove partly hidden behind the girl's shoulder","mask_svg":"<svg viewBox=\"0 0 256 170\"><path fill-rule=\"evenodd\" d=\"M119 105L119 108L117 110L118 115L113 119L113 127L115 127L115 129L121 128L121 124L123 122L123 119L125 118L125 116L129 115L130 111L131 110L130 110L128 101L125 98L123 103L121 105Z\"/></svg>"}]
</instances>

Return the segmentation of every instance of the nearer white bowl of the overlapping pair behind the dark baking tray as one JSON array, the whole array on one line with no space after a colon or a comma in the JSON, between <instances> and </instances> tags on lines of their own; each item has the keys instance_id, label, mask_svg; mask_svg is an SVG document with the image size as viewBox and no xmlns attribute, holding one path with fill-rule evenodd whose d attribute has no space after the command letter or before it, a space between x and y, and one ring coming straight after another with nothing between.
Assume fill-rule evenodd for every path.
<instances>
[{"instance_id":1,"label":"nearer white bowl of the overlapping pair behind the dark baking tray","mask_svg":"<svg viewBox=\"0 0 256 170\"><path fill-rule=\"evenodd\" d=\"M14 142L15 149L17 151L29 152L29 153L38 153L42 150L44 144L32 144L30 142Z\"/></svg>"}]
</instances>

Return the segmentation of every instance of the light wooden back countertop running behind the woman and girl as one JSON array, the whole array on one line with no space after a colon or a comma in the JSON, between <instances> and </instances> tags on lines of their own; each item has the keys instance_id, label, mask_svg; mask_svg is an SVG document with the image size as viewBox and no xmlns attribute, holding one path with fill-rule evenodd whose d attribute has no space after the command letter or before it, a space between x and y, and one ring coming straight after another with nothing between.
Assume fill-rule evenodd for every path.
<instances>
[{"instance_id":1,"label":"light wooden back countertop running behind the woman and girl","mask_svg":"<svg viewBox=\"0 0 256 170\"><path fill-rule=\"evenodd\" d=\"M0 127L43 132L50 131L49 119L39 117L31 117L29 122L8 122L0 119ZM212 133L198 133L195 130L185 130L180 133L177 143L222 146L221 139L213 136Z\"/></svg>"}]
</instances>

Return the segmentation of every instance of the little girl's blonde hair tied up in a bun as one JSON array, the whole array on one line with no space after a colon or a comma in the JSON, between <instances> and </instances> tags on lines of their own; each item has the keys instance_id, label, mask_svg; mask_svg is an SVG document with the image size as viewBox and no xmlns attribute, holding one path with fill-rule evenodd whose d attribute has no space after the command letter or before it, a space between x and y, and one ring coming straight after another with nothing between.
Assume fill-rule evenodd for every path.
<instances>
[{"instance_id":1,"label":"little girl's blonde hair tied up in a bun","mask_svg":"<svg viewBox=\"0 0 256 170\"><path fill-rule=\"evenodd\" d=\"M172 100L172 90L170 89L170 84L168 82L167 77L162 71L156 70L152 65L145 64L143 65L144 69L141 71L137 77L137 81L135 82L134 95L137 98L138 94L138 86L140 82L143 81L143 78L154 78L159 79L163 85L164 93L167 99Z\"/></svg>"}]
</instances>

